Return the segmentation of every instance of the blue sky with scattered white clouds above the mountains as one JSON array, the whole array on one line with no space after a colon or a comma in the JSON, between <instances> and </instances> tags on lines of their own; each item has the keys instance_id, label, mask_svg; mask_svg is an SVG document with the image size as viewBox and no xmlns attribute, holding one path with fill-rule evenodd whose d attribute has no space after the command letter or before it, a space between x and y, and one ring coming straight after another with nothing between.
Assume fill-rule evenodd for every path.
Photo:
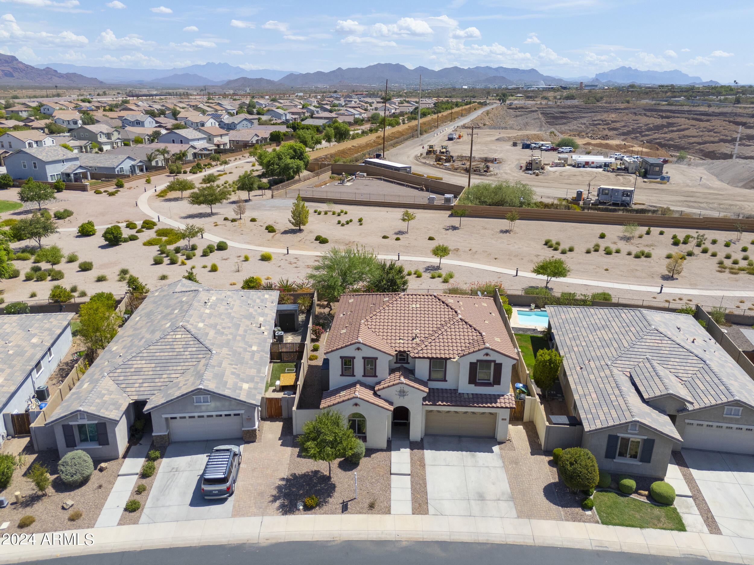
<instances>
[{"instance_id":1,"label":"blue sky with scattered white clouds above the mountains","mask_svg":"<svg viewBox=\"0 0 754 565\"><path fill-rule=\"evenodd\" d=\"M450 0L143 2L0 0L0 50L25 63L244 69L339 66L535 68L593 76L618 66L754 82L754 2Z\"/></svg>"}]
</instances>

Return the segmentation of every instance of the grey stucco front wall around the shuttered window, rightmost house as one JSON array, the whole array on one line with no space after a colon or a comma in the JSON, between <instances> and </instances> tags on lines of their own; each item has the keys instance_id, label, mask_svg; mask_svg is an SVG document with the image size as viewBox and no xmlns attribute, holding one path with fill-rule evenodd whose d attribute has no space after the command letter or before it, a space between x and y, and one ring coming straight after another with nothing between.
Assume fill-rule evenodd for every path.
<instances>
[{"instance_id":1,"label":"grey stucco front wall around the shuttered window, rightmost house","mask_svg":"<svg viewBox=\"0 0 754 565\"><path fill-rule=\"evenodd\" d=\"M639 463L637 460L635 463L621 463L613 459L605 459L608 435L627 435L633 438L654 439L654 450L652 451L651 461L649 463ZM624 426L616 426L615 428L601 429L596 432L584 432L581 447L592 452L597 460L597 466L603 471L624 475L648 475L650 477L664 478L667 474L667 464L670 462L670 452L673 449L679 449L679 443L641 424L639 424L639 432L629 433L628 424L626 424ZM644 443L642 442L641 450L643 449ZM639 459L641 459L642 455L641 450L639 450Z\"/></svg>"}]
</instances>

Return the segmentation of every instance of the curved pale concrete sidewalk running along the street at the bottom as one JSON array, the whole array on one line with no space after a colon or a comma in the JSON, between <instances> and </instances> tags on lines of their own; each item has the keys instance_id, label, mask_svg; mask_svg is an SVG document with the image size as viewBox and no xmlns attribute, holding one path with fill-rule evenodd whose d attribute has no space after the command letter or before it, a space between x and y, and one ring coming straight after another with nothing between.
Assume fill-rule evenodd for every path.
<instances>
[{"instance_id":1,"label":"curved pale concrete sidewalk running along the street at the bottom","mask_svg":"<svg viewBox=\"0 0 754 565\"><path fill-rule=\"evenodd\" d=\"M85 545L87 534L93 541L91 545ZM158 547L375 539L550 545L644 555L703 557L754 565L754 539L478 516L255 516L69 530L66 536L78 539L79 545L61 545L60 535L55 545L51 545L51 542L44 542L43 534L38 533L35 545L6 545L0 554L0 563Z\"/></svg>"}]
</instances>

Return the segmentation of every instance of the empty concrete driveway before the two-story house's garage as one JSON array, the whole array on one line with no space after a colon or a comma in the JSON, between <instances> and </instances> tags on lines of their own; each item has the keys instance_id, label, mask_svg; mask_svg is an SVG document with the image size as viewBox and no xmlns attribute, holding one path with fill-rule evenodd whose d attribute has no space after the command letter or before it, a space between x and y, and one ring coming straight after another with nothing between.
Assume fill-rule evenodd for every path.
<instances>
[{"instance_id":1,"label":"empty concrete driveway before the two-story house's garage","mask_svg":"<svg viewBox=\"0 0 754 565\"><path fill-rule=\"evenodd\" d=\"M424 444L430 514L516 518L495 439L425 435Z\"/></svg>"}]
</instances>

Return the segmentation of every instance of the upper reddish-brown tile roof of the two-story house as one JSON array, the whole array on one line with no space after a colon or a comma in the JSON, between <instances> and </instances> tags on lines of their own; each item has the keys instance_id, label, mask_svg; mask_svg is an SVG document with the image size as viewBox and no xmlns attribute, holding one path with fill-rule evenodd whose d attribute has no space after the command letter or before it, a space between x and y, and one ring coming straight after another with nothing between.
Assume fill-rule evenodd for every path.
<instances>
[{"instance_id":1,"label":"upper reddish-brown tile roof of the two-story house","mask_svg":"<svg viewBox=\"0 0 754 565\"><path fill-rule=\"evenodd\" d=\"M518 359L492 297L342 295L325 353L357 343L391 355L406 351L420 359L453 359L485 347Z\"/></svg>"}]
</instances>

